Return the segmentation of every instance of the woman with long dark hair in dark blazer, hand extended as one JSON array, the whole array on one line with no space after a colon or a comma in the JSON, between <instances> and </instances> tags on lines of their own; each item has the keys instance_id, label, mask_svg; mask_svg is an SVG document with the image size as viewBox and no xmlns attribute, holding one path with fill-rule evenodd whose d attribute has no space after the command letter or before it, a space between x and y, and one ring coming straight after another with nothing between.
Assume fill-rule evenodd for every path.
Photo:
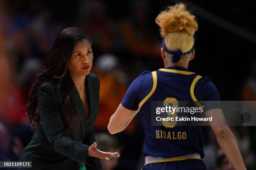
<instances>
[{"instance_id":1,"label":"woman with long dark hair in dark blazer, hand extended","mask_svg":"<svg viewBox=\"0 0 256 170\"><path fill-rule=\"evenodd\" d=\"M31 88L27 114L35 133L20 161L32 161L33 169L99 170L98 159L118 153L97 150L95 131L100 84L90 73L92 47L79 28L67 28L54 41L44 69Z\"/></svg>"}]
</instances>

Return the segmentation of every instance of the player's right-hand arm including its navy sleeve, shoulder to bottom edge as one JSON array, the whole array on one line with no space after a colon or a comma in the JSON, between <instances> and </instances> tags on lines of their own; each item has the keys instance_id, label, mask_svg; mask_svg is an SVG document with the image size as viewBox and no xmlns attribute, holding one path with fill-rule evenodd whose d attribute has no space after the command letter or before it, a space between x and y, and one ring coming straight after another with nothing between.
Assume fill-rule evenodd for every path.
<instances>
[{"instance_id":1,"label":"player's right-hand arm including its navy sleeve, shoulder to bottom edge","mask_svg":"<svg viewBox=\"0 0 256 170\"><path fill-rule=\"evenodd\" d=\"M204 93L205 117L212 117L212 121L209 121L209 124L228 160L236 170L246 170L236 138L225 122L225 117L221 110L219 91L210 80L207 80L207 77L203 79L205 82L200 88L197 88L197 91Z\"/></svg>"}]
</instances>

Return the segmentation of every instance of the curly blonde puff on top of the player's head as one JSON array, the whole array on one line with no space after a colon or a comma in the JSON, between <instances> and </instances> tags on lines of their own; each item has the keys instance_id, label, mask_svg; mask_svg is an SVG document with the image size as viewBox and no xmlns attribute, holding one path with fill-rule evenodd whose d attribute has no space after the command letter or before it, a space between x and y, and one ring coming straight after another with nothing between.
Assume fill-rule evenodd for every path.
<instances>
[{"instance_id":1,"label":"curly blonde puff on top of the player's head","mask_svg":"<svg viewBox=\"0 0 256 170\"><path fill-rule=\"evenodd\" d=\"M194 35L198 28L195 15L192 15L183 3L168 6L156 17L156 23L161 28L161 36L169 32L186 31Z\"/></svg>"}]
</instances>

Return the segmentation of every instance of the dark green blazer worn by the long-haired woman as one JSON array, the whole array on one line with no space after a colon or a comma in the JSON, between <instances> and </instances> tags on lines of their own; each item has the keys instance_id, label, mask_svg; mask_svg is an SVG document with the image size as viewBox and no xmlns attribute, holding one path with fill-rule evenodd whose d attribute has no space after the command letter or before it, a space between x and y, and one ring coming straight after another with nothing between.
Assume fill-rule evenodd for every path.
<instances>
[{"instance_id":1,"label":"dark green blazer worn by the long-haired woman","mask_svg":"<svg viewBox=\"0 0 256 170\"><path fill-rule=\"evenodd\" d=\"M101 169L98 158L87 157L88 148L95 142L93 125L97 119L100 83L97 76L90 73L86 75L85 85L89 95L90 116L87 118L79 92L72 81L72 108L82 120L69 133L64 131L61 116L64 100L57 92L56 83L49 81L39 87L37 101L42 125L37 122L36 132L23 150L20 161L32 161L32 169L36 170L75 170L82 163L85 163L87 170Z\"/></svg>"}]
</instances>

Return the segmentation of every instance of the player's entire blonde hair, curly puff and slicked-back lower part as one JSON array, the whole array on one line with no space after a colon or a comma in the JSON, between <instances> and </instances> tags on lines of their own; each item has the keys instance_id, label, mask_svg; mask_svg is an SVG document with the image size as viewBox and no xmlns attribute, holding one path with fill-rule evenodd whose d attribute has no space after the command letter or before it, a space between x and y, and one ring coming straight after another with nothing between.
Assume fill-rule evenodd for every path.
<instances>
[{"instance_id":1,"label":"player's entire blonde hair, curly puff and slicked-back lower part","mask_svg":"<svg viewBox=\"0 0 256 170\"><path fill-rule=\"evenodd\" d=\"M187 52L194 45L194 34L198 29L195 15L192 15L183 3L168 6L156 17L169 50Z\"/></svg>"}]
</instances>

